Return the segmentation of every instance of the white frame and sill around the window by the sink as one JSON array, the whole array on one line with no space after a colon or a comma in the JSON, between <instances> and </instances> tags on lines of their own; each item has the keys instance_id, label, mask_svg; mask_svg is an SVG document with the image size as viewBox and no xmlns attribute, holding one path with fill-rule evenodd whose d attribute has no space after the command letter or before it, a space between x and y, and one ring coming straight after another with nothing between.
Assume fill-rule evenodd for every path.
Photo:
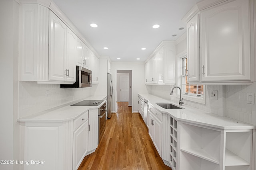
<instances>
[{"instance_id":1,"label":"white frame and sill around the window by the sink","mask_svg":"<svg viewBox=\"0 0 256 170\"><path fill-rule=\"evenodd\" d=\"M179 53L176 56L176 66L177 66L177 74L176 74L176 82L177 86L181 87L182 89L182 98L184 100L188 100L191 102L196 102L200 104L206 104L206 85L203 85L203 95L197 96L197 94L187 94L183 91L183 84L182 84L182 78L184 78L183 75L183 59L187 57L187 51L183 51L182 53ZM192 84L194 85L194 84ZM195 84L195 85L201 85L201 84ZM198 90L198 89L197 89ZM176 98L180 98L179 92L176 92Z\"/></svg>"}]
</instances>

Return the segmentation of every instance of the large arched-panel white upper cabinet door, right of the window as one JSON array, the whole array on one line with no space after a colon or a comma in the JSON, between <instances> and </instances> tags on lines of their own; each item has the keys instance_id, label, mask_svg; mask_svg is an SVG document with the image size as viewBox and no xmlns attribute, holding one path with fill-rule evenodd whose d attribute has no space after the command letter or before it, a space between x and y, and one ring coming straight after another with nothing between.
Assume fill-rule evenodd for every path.
<instances>
[{"instance_id":1,"label":"large arched-panel white upper cabinet door, right of the window","mask_svg":"<svg viewBox=\"0 0 256 170\"><path fill-rule=\"evenodd\" d=\"M235 0L200 14L202 81L250 80L249 8Z\"/></svg>"}]
</instances>

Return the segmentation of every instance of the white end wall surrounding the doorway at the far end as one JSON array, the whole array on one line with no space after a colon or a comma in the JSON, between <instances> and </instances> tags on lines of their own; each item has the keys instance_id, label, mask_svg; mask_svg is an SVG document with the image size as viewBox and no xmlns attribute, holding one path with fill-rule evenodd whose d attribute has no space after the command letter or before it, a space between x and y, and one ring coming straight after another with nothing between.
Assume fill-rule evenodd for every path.
<instances>
[{"instance_id":1,"label":"white end wall surrounding the doorway at the far end","mask_svg":"<svg viewBox=\"0 0 256 170\"><path fill-rule=\"evenodd\" d=\"M114 86L112 111L116 112L116 72L117 70L132 70L132 112L138 112L138 93L148 93L144 83L144 63L111 63L112 82Z\"/></svg>"}]
</instances>

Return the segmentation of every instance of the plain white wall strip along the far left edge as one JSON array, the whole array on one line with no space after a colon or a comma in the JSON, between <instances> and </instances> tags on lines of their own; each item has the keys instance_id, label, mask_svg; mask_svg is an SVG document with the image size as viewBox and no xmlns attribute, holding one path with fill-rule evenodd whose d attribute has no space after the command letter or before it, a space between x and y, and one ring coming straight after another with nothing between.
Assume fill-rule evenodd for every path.
<instances>
[{"instance_id":1,"label":"plain white wall strip along the far left edge","mask_svg":"<svg viewBox=\"0 0 256 170\"><path fill-rule=\"evenodd\" d=\"M14 0L0 1L0 160L18 158L18 4ZM2 165L1 170L16 169Z\"/></svg>"}]
</instances>

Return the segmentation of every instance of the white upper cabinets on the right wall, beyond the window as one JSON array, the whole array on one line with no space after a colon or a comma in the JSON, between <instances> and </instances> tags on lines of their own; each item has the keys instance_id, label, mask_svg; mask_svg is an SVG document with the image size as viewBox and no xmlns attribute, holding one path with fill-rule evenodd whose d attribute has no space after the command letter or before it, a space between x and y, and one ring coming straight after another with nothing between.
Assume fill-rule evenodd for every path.
<instances>
[{"instance_id":1,"label":"white upper cabinets on the right wall, beyond the window","mask_svg":"<svg viewBox=\"0 0 256 170\"><path fill-rule=\"evenodd\" d=\"M145 64L145 84L175 84L175 45L163 41Z\"/></svg>"}]
</instances>

